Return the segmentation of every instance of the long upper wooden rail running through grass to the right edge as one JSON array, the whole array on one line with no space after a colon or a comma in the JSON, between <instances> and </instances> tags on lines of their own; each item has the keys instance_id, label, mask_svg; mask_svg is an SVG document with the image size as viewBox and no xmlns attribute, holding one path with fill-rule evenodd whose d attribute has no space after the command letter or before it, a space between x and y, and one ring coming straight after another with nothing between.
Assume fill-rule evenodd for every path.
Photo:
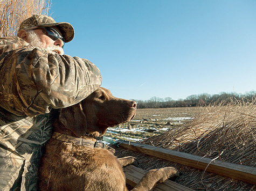
<instances>
[{"instance_id":1,"label":"long upper wooden rail running through grass to the right edge","mask_svg":"<svg viewBox=\"0 0 256 191\"><path fill-rule=\"evenodd\" d=\"M226 163L220 160L212 161L210 158L202 158L184 152L172 151L141 143L129 141L119 143L119 146L124 149L142 152L150 156L169 160L185 166L190 166L200 170L205 170L207 172L215 173L223 177L232 178L256 185L256 168L254 167Z\"/></svg>"}]
</instances>

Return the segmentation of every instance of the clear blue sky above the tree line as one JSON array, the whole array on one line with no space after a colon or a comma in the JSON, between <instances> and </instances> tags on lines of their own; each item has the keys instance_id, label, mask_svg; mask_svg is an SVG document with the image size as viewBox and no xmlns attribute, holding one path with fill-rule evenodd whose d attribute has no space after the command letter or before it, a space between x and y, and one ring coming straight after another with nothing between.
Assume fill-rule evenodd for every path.
<instances>
[{"instance_id":1,"label":"clear blue sky above the tree line","mask_svg":"<svg viewBox=\"0 0 256 191\"><path fill-rule=\"evenodd\" d=\"M87 58L124 99L256 90L255 0L52 1L75 28L65 54Z\"/></svg>"}]
</instances>

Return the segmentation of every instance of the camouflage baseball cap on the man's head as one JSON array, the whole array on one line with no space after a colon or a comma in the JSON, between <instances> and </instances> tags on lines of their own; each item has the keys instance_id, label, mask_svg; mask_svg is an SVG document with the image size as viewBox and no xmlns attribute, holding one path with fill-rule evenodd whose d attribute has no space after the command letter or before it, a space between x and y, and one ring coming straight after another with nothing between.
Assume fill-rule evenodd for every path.
<instances>
[{"instance_id":1,"label":"camouflage baseball cap on the man's head","mask_svg":"<svg viewBox=\"0 0 256 191\"><path fill-rule=\"evenodd\" d=\"M32 17L25 19L20 24L19 31L22 29L27 29L35 26L57 26L66 42L70 42L74 38L74 28L70 23L56 23L56 21L53 18L45 16L43 14L33 14Z\"/></svg>"}]
</instances>

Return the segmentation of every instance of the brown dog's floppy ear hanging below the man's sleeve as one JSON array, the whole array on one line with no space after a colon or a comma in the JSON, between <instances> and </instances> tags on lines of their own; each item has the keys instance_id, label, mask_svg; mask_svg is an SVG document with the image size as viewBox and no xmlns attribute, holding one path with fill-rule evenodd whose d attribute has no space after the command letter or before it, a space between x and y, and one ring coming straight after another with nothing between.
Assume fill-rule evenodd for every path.
<instances>
[{"instance_id":1,"label":"brown dog's floppy ear hanging below the man's sleeve","mask_svg":"<svg viewBox=\"0 0 256 191\"><path fill-rule=\"evenodd\" d=\"M59 120L78 137L86 134L86 116L81 102L70 107L62 108L60 110Z\"/></svg>"}]
</instances>

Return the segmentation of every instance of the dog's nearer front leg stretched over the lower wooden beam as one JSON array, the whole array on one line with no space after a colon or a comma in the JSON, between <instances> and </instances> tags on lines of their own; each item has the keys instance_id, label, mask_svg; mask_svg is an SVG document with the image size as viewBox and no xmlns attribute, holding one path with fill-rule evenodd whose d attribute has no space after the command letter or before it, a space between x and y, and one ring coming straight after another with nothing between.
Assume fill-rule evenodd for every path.
<instances>
[{"instance_id":1,"label":"dog's nearer front leg stretched over the lower wooden beam","mask_svg":"<svg viewBox=\"0 0 256 191\"><path fill-rule=\"evenodd\" d=\"M149 191L158 183L167 180L171 176L174 177L175 175L178 175L178 172L174 167L150 170L144 177L142 177L141 181L132 189L132 191Z\"/></svg>"}]
</instances>

